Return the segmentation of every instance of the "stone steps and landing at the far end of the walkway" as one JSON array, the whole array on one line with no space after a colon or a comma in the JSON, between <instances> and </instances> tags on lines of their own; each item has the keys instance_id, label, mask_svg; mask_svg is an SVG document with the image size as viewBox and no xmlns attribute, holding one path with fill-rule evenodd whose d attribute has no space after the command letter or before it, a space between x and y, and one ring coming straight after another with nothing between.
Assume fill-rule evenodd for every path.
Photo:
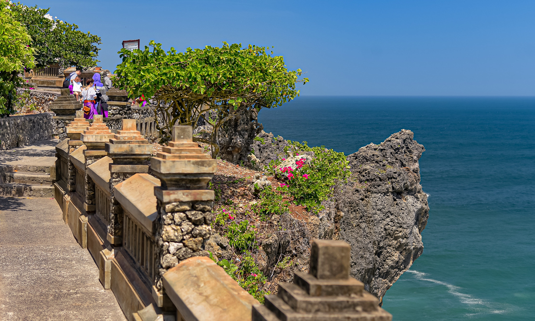
<instances>
[{"instance_id":1,"label":"stone steps and landing at the far end of the walkway","mask_svg":"<svg viewBox=\"0 0 535 321\"><path fill-rule=\"evenodd\" d=\"M0 195L53 197L50 166L56 163L58 140L0 150Z\"/></svg>"}]
</instances>

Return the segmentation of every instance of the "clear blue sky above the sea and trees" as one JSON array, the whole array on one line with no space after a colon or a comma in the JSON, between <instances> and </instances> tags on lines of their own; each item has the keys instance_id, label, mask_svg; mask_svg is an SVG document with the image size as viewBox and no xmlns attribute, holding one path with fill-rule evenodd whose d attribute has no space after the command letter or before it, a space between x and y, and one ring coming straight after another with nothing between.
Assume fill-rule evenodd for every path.
<instances>
[{"instance_id":1,"label":"clear blue sky above the sea and trees","mask_svg":"<svg viewBox=\"0 0 535 321\"><path fill-rule=\"evenodd\" d=\"M535 1L23 3L101 36L99 65L112 71L123 40L227 41L274 46L310 78L302 95L535 94Z\"/></svg>"}]
</instances>

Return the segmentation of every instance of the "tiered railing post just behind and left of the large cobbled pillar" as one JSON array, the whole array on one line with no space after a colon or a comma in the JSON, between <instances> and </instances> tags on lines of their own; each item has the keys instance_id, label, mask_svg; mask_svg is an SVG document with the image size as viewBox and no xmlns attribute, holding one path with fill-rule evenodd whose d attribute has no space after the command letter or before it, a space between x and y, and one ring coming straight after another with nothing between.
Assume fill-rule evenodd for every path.
<instances>
[{"instance_id":1,"label":"tiered railing post just behind and left of the large cobbled pillar","mask_svg":"<svg viewBox=\"0 0 535 321\"><path fill-rule=\"evenodd\" d=\"M135 119L123 119L122 129L105 143L108 157L113 159L110 166L110 224L108 225L108 241L116 246L121 244L123 226L121 225L121 205L114 198L113 187L136 173L147 173L145 159L152 153L152 144L136 130Z\"/></svg>"}]
</instances>

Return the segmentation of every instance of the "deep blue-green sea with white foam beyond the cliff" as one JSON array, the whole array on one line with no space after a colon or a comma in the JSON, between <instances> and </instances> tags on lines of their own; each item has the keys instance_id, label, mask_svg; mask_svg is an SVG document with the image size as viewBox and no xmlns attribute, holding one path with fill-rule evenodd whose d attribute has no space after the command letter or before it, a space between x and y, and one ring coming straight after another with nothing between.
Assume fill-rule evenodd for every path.
<instances>
[{"instance_id":1,"label":"deep blue-green sea with white foam beyond the cliff","mask_svg":"<svg viewBox=\"0 0 535 321\"><path fill-rule=\"evenodd\" d=\"M395 321L535 320L535 97L299 97L266 132L351 154L410 129L424 252L386 292Z\"/></svg>"}]
</instances>

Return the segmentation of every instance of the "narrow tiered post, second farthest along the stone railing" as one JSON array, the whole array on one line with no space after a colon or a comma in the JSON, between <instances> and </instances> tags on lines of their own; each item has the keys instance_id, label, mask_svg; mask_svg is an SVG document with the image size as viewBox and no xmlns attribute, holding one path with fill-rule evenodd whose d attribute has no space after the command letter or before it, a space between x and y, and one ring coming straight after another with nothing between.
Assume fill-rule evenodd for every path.
<instances>
[{"instance_id":1,"label":"narrow tiered post, second farthest along the stone railing","mask_svg":"<svg viewBox=\"0 0 535 321\"><path fill-rule=\"evenodd\" d=\"M86 193L83 201L83 209L86 212L95 211L95 183L93 179L87 174L87 166L95 163L98 159L108 155L104 150L106 142L113 138L114 134L110 128L102 122L102 115L93 116L93 124L89 125L80 135L80 140L87 147L83 151L83 156L86 164L85 184Z\"/></svg>"}]
</instances>

